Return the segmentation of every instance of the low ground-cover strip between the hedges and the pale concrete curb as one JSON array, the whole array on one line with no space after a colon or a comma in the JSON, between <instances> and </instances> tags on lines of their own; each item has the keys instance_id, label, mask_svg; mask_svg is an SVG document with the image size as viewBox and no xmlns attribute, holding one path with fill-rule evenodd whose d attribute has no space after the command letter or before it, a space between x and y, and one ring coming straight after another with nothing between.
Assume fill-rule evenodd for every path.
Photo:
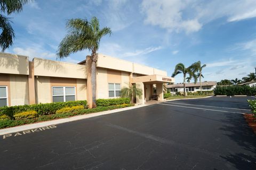
<instances>
[{"instance_id":1,"label":"low ground-cover strip between the hedges and the pale concrete curb","mask_svg":"<svg viewBox=\"0 0 256 170\"><path fill-rule=\"evenodd\" d=\"M9 118L3 118L0 119L0 129L2 128L9 128L13 126L19 126L23 124L30 124L30 123L36 123L36 122L43 122L43 121L50 121L57 118L67 118L75 115L83 115L83 114L90 114L90 113L96 113L96 112L102 112L102 111L109 111L117 108L124 108L124 107L130 107L134 106L134 104L122 104L122 105L114 105L114 106L99 106L96 108L85 108L85 109L79 109L79 110L73 110L70 112L63 112L63 113L56 113L56 114L50 114L50 115L39 115L35 118L23 118L21 120L10 120Z\"/></svg>"}]
</instances>

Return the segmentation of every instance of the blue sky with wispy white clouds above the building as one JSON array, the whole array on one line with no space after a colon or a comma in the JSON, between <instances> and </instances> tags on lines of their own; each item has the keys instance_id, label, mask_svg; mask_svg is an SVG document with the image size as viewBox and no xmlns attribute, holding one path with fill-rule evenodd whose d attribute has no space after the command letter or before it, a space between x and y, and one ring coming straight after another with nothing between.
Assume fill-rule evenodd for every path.
<instances>
[{"instance_id":1,"label":"blue sky with wispy white clouds above the building","mask_svg":"<svg viewBox=\"0 0 256 170\"><path fill-rule=\"evenodd\" d=\"M96 16L111 36L99 53L166 70L178 63L206 64L203 81L245 77L256 66L255 0L38 0L13 14L14 45L7 53L56 60L71 18ZM77 63L84 50L65 61ZM176 82L182 82L177 75Z\"/></svg>"}]
</instances>

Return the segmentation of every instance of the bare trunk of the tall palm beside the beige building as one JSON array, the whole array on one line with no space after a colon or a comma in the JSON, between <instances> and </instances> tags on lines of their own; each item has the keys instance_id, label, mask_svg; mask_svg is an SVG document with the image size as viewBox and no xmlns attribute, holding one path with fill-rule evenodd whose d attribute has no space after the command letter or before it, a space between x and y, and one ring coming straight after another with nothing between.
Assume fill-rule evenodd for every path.
<instances>
[{"instance_id":1,"label":"bare trunk of the tall palm beside the beige building","mask_svg":"<svg viewBox=\"0 0 256 170\"><path fill-rule=\"evenodd\" d=\"M92 108L96 107L96 64L97 53L92 52L92 67L91 67L91 84L92 84Z\"/></svg>"}]
</instances>

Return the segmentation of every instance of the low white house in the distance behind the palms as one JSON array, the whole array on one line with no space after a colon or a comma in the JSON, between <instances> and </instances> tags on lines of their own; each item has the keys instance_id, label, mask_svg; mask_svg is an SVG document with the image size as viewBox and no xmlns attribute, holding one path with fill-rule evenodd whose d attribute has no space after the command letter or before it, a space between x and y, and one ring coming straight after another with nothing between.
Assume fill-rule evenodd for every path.
<instances>
[{"instance_id":1,"label":"low white house in the distance behind the palms","mask_svg":"<svg viewBox=\"0 0 256 170\"><path fill-rule=\"evenodd\" d=\"M217 86L216 81L206 81L202 82L202 91L211 91ZM173 92L183 92L183 83L181 84L169 84L166 86L171 93ZM200 91L200 83L186 83L187 92Z\"/></svg>"}]
</instances>

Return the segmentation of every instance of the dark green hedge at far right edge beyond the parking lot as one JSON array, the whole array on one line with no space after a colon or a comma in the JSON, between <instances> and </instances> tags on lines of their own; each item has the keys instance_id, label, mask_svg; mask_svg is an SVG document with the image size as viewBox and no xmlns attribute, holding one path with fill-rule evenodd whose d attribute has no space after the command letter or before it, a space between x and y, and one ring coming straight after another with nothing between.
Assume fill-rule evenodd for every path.
<instances>
[{"instance_id":1,"label":"dark green hedge at far right edge beyond the parking lot","mask_svg":"<svg viewBox=\"0 0 256 170\"><path fill-rule=\"evenodd\" d=\"M214 95L256 95L256 88L250 86L217 86L213 89Z\"/></svg>"}]
</instances>

